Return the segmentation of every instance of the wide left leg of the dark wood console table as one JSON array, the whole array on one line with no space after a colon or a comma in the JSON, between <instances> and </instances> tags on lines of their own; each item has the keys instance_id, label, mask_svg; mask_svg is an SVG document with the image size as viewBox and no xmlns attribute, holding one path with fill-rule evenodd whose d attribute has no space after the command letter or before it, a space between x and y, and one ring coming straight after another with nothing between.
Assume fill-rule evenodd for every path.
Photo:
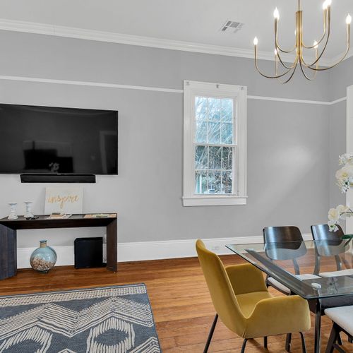
<instances>
[{"instance_id":1,"label":"wide left leg of the dark wood console table","mask_svg":"<svg viewBox=\"0 0 353 353\"><path fill-rule=\"evenodd\" d=\"M0 225L0 280L17 273L16 230Z\"/></svg>"}]
</instances>

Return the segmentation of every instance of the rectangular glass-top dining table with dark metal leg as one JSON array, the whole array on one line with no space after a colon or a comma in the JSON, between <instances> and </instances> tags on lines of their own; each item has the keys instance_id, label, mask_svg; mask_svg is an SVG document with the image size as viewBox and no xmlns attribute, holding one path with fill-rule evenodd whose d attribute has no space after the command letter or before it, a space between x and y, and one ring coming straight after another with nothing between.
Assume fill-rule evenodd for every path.
<instances>
[{"instance_id":1,"label":"rectangular glass-top dining table with dark metal leg","mask_svg":"<svg viewBox=\"0 0 353 353\"><path fill-rule=\"evenodd\" d=\"M320 353L324 309L353 305L352 239L283 241L227 245L227 248L279 282L288 294L298 294L315 313L314 352Z\"/></svg>"}]
</instances>

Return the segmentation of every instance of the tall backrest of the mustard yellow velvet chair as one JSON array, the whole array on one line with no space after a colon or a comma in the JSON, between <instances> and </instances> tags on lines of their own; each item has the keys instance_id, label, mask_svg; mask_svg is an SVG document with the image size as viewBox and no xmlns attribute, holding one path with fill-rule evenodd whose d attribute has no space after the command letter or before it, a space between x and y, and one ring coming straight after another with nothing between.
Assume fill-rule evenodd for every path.
<instances>
[{"instance_id":1,"label":"tall backrest of the mustard yellow velvet chair","mask_svg":"<svg viewBox=\"0 0 353 353\"><path fill-rule=\"evenodd\" d=\"M196 241L196 251L215 311L229 330L242 335L246 318L241 313L225 266L215 253L205 248L200 239Z\"/></svg>"}]
</instances>

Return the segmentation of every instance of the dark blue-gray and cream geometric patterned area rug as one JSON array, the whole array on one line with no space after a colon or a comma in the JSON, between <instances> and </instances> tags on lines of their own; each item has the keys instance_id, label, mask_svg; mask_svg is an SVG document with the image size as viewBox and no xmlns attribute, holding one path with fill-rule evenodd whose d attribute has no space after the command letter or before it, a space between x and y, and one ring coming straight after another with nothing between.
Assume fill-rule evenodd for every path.
<instances>
[{"instance_id":1,"label":"dark blue-gray and cream geometric patterned area rug","mask_svg":"<svg viewBox=\"0 0 353 353\"><path fill-rule=\"evenodd\" d=\"M0 352L161 352L146 287L0 297Z\"/></svg>"}]
</instances>

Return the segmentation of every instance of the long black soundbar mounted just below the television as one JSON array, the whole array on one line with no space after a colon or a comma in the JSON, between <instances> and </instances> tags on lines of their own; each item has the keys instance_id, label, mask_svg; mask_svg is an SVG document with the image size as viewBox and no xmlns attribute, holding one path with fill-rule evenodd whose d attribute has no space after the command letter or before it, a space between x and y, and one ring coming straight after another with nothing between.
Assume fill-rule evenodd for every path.
<instances>
[{"instance_id":1,"label":"long black soundbar mounted just below the television","mask_svg":"<svg viewBox=\"0 0 353 353\"><path fill-rule=\"evenodd\" d=\"M20 174L21 183L95 183L95 174Z\"/></svg>"}]
</instances>

